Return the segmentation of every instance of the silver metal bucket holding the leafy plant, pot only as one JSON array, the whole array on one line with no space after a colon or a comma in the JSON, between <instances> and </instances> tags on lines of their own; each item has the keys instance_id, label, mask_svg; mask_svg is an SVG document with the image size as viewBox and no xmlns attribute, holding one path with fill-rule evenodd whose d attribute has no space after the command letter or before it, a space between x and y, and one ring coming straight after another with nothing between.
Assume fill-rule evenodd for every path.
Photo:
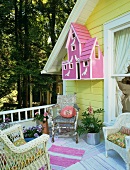
<instances>
[{"instance_id":1,"label":"silver metal bucket holding the leafy plant, pot only","mask_svg":"<svg viewBox=\"0 0 130 170\"><path fill-rule=\"evenodd\" d=\"M89 145L98 145L100 143L100 133L87 133L86 142Z\"/></svg>"}]
</instances>

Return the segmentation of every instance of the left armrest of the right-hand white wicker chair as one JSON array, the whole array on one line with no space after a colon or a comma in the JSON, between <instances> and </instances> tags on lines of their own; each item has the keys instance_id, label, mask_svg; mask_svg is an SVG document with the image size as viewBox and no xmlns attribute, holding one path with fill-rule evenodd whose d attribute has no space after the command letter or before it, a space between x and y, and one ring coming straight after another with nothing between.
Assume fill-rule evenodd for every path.
<instances>
[{"instance_id":1,"label":"left armrest of the right-hand white wicker chair","mask_svg":"<svg viewBox=\"0 0 130 170\"><path fill-rule=\"evenodd\" d=\"M107 139L107 136L110 134L114 134L116 132L118 132L120 129L117 127L103 127L103 133L104 133L104 138L105 140Z\"/></svg>"}]
</instances>

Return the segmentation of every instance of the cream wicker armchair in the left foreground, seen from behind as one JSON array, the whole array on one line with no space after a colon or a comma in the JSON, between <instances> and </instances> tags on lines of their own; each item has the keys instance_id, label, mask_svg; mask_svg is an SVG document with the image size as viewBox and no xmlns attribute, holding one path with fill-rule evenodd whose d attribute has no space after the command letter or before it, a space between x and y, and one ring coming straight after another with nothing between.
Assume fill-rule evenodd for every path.
<instances>
[{"instance_id":1,"label":"cream wicker armchair in the left foreground, seen from behind","mask_svg":"<svg viewBox=\"0 0 130 170\"><path fill-rule=\"evenodd\" d=\"M50 159L47 151L49 135L40 137L15 146L14 142L23 140L21 125L14 125L6 130L0 130L0 169L1 170L50 170Z\"/></svg>"}]
</instances>

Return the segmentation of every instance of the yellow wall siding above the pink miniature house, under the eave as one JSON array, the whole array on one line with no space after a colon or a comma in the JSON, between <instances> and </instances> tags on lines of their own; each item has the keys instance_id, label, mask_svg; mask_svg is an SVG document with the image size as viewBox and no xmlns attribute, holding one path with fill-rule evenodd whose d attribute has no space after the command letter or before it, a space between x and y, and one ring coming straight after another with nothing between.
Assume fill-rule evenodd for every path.
<instances>
[{"instance_id":1,"label":"yellow wall siding above the pink miniature house, under the eave","mask_svg":"<svg viewBox=\"0 0 130 170\"><path fill-rule=\"evenodd\" d=\"M92 37L97 37L101 49L104 51L103 27L104 24L127 12L130 12L130 0L100 0L91 16L86 22L86 26Z\"/></svg>"}]
</instances>

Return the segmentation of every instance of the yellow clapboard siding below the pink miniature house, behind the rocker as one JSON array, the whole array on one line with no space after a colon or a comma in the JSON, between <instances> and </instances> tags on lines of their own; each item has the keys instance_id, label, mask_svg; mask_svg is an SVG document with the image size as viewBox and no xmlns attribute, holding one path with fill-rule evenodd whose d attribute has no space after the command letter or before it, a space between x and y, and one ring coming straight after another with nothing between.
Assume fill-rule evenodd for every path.
<instances>
[{"instance_id":1,"label":"yellow clapboard siding below the pink miniature house, behind the rocker","mask_svg":"<svg viewBox=\"0 0 130 170\"><path fill-rule=\"evenodd\" d=\"M66 93L77 93L77 104L81 113L91 104L95 109L104 108L103 106L103 80L75 80L66 81ZM101 117L101 116L100 116Z\"/></svg>"}]
</instances>

